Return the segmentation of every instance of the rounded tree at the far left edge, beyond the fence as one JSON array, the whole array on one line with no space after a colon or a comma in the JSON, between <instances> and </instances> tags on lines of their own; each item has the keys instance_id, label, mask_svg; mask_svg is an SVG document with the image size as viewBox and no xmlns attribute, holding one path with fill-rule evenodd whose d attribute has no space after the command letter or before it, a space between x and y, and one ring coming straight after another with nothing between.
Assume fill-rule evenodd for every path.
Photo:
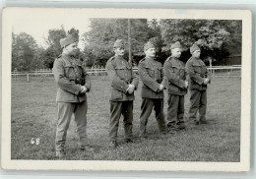
<instances>
[{"instance_id":1,"label":"rounded tree at the far left edge, beyond the fence","mask_svg":"<svg viewBox=\"0 0 256 179\"><path fill-rule=\"evenodd\" d=\"M32 70L36 49L37 44L32 35L25 32L12 33L12 71Z\"/></svg>"}]
</instances>

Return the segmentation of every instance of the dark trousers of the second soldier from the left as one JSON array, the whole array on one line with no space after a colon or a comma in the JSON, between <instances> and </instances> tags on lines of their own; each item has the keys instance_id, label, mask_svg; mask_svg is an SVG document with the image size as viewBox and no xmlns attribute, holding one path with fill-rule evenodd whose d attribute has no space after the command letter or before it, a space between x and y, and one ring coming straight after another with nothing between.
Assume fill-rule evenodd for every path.
<instances>
[{"instance_id":1,"label":"dark trousers of the second soldier from the left","mask_svg":"<svg viewBox=\"0 0 256 179\"><path fill-rule=\"evenodd\" d=\"M119 119L123 115L125 139L132 139L133 101L110 101L109 139L117 140Z\"/></svg>"}]
</instances>

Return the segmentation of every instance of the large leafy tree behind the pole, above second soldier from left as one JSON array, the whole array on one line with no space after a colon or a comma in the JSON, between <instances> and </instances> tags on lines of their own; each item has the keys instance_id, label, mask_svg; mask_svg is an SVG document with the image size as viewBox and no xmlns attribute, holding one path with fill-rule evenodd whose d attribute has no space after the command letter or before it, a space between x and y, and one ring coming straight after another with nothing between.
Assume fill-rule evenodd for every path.
<instances>
[{"instance_id":1,"label":"large leafy tree behind the pole, above second soldier from left","mask_svg":"<svg viewBox=\"0 0 256 179\"><path fill-rule=\"evenodd\" d=\"M150 28L146 19L131 20L132 52L143 51L144 44L150 39ZM113 55L113 44L117 38L122 38L128 43L127 19L92 19L91 30L84 34L85 50L88 59L94 59L96 65L104 66ZM125 57L128 49L126 49Z\"/></svg>"}]
</instances>

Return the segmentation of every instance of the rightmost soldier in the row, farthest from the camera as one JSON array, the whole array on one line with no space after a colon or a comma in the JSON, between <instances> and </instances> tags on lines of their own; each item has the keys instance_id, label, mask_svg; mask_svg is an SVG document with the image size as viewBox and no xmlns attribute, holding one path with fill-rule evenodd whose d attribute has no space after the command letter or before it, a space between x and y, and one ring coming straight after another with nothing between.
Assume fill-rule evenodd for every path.
<instances>
[{"instance_id":1,"label":"rightmost soldier in the row, farthest from the camera","mask_svg":"<svg viewBox=\"0 0 256 179\"><path fill-rule=\"evenodd\" d=\"M206 121L206 106L207 106L207 84L211 82L211 76L205 63L199 58L200 48L193 44L190 47L192 57L186 63L186 71L189 75L190 89L190 108L189 119L193 120L196 125L207 123ZM197 111L199 110L199 120L196 119Z\"/></svg>"}]
</instances>

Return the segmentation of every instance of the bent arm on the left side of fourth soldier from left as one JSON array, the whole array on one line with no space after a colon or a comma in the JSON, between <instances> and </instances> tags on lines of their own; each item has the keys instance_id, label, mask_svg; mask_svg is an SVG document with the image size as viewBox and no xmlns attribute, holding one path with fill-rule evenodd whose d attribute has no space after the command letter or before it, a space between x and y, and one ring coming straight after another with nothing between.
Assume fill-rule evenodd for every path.
<instances>
[{"instance_id":1,"label":"bent arm on the left side of fourth soldier from left","mask_svg":"<svg viewBox=\"0 0 256 179\"><path fill-rule=\"evenodd\" d=\"M165 78L167 79L168 82L171 82L171 84L181 89L185 89L185 81L179 79L175 75L171 63L165 62L163 65L163 70L164 70Z\"/></svg>"}]
</instances>

